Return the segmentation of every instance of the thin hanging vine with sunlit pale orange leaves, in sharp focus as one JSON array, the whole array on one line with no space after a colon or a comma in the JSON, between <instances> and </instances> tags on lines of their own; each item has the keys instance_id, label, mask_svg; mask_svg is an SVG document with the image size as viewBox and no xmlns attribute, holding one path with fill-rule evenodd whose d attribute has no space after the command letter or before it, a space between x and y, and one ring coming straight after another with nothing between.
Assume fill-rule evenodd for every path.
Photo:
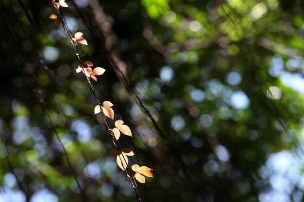
<instances>
[{"instance_id":1,"label":"thin hanging vine with sunlit pale orange leaves, in sharp focus","mask_svg":"<svg viewBox=\"0 0 304 202\"><path fill-rule=\"evenodd\" d=\"M127 126L126 124L123 124L124 122L122 120L116 120L115 127L111 127L109 119L114 120L115 113L114 113L114 110L111 108L114 105L110 101L103 101L101 104L101 101L98 98L97 94L95 93L95 90L91 83L91 79L93 79L94 81L97 82L96 76L101 76L102 74L104 74L104 72L106 70L101 67L93 68L94 64L92 62L89 62L89 61L83 62L82 61L81 55L77 48L77 44L80 43L80 44L88 46L88 43L87 43L86 39L83 37L82 32L76 32L73 37L71 31L68 29L68 26L65 23L62 15L60 13L60 10L59 10L60 6L68 8L68 4L65 2L65 0L58 0L57 2L56 2L56 0L51 0L51 3L53 5L53 7L55 8L55 11L57 12L58 16L56 14L52 14L50 16L50 19L54 20L54 23L57 27L59 27L60 25L63 27L64 33L67 36L67 38L69 39L69 41L74 49L74 52L76 54L76 57L78 59L78 62L79 62L78 66L76 68L76 73L82 72L84 74L84 76L86 77L88 84L90 86L90 90L93 93L94 98L97 102L97 105L94 109L94 113L95 114L101 113L102 119L108 128L107 131L112 136L112 142L114 145L114 149L112 149L109 152L108 156L117 156L118 167L122 171L124 171L126 178L128 179L128 181L130 181L132 187L134 188L135 195L136 195L138 201L142 202L143 200L140 195L140 192L139 192L135 179L140 183L145 183L146 182L145 176L153 177L152 169L150 169L146 166L139 166L137 164L132 165L131 169L130 169L130 167L128 167L128 163L129 163L128 156L133 156L134 152L129 148L121 148L118 143L118 139L120 138L121 133L132 137L132 132L131 132L129 126Z\"/></svg>"}]
</instances>

